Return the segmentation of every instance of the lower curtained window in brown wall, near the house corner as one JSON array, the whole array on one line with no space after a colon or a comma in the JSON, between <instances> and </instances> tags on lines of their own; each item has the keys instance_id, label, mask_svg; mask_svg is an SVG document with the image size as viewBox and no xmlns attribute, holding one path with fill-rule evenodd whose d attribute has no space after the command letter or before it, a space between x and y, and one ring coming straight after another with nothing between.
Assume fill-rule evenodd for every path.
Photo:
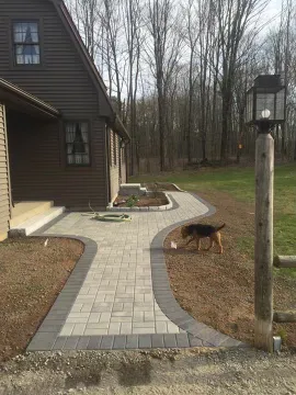
<instances>
[{"instance_id":1,"label":"lower curtained window in brown wall, near the house corner","mask_svg":"<svg viewBox=\"0 0 296 395\"><path fill-rule=\"evenodd\" d=\"M67 165L89 166L89 123L68 121L65 123Z\"/></svg>"}]
</instances>

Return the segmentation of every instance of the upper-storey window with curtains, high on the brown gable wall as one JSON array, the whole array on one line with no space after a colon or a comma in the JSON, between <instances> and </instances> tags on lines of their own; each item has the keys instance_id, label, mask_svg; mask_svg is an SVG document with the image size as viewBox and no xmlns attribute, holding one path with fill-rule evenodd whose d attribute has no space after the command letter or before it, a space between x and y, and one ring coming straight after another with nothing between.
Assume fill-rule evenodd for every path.
<instances>
[{"instance_id":1,"label":"upper-storey window with curtains, high on the brown gable wall","mask_svg":"<svg viewBox=\"0 0 296 395\"><path fill-rule=\"evenodd\" d=\"M14 60L16 65L39 65L41 46L37 22L13 23Z\"/></svg>"}]
</instances>

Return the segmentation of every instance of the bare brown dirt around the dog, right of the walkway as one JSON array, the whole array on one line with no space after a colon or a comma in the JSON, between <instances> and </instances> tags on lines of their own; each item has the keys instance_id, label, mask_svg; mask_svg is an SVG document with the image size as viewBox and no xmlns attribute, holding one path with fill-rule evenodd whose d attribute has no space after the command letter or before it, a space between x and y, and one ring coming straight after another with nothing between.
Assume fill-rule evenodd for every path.
<instances>
[{"instance_id":1,"label":"bare brown dirt around the dog, right of the walkway","mask_svg":"<svg viewBox=\"0 0 296 395\"><path fill-rule=\"evenodd\" d=\"M180 228L173 230L164 241L167 268L171 287L180 305L194 318L241 341L253 342L253 260L241 252L238 244L252 237L254 208L236 201L223 192L200 193L214 204L217 213L201 223L219 225L224 255L217 247L197 253L194 244L184 248ZM179 249L170 248L170 241ZM202 248L208 244L202 240ZM296 281L291 278L274 279L274 308L295 308ZM287 336L286 343L296 347L296 325L274 324L274 334Z\"/></svg>"}]
</instances>

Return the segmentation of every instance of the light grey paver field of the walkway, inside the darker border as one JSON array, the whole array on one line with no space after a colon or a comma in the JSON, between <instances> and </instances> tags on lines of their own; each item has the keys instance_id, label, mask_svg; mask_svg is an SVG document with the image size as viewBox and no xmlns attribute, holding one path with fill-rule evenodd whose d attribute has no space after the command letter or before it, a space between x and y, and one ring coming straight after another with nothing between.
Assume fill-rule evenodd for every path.
<instances>
[{"instance_id":1,"label":"light grey paver field of the walkway, inside the darker border","mask_svg":"<svg viewBox=\"0 0 296 395\"><path fill-rule=\"evenodd\" d=\"M71 213L47 234L93 239L98 253L60 336L179 334L158 306L152 291L150 244L168 225L205 214L189 193L172 192L179 204L167 212L133 212L128 223L101 223Z\"/></svg>"}]
</instances>

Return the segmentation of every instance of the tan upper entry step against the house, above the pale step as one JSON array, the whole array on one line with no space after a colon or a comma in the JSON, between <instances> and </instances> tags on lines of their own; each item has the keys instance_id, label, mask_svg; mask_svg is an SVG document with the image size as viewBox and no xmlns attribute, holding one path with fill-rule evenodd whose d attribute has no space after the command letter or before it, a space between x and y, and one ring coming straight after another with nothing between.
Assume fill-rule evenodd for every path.
<instances>
[{"instance_id":1,"label":"tan upper entry step against the house, above the pale step","mask_svg":"<svg viewBox=\"0 0 296 395\"><path fill-rule=\"evenodd\" d=\"M20 224L37 214L45 213L54 206L54 202L20 202L12 207L10 227L18 227Z\"/></svg>"}]
</instances>

